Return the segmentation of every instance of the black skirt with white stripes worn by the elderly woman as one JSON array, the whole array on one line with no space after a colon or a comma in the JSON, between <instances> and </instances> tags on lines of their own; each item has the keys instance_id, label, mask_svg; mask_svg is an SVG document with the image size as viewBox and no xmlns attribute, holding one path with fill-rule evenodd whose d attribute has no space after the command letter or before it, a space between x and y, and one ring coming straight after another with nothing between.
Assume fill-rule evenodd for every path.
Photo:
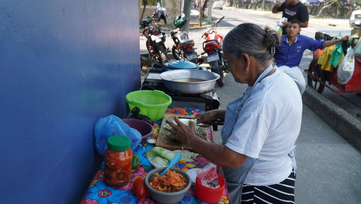
<instances>
[{"instance_id":1,"label":"black skirt with white stripes worn by the elderly woman","mask_svg":"<svg viewBox=\"0 0 361 204\"><path fill-rule=\"evenodd\" d=\"M292 170L284 181L269 186L243 185L241 204L295 203L296 176Z\"/></svg>"}]
</instances>

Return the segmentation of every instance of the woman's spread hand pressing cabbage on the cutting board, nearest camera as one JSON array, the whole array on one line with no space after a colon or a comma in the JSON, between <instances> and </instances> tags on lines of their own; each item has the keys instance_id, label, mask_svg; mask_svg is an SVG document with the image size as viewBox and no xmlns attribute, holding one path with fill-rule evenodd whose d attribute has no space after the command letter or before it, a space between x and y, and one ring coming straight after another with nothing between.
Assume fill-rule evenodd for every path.
<instances>
[{"instance_id":1,"label":"woman's spread hand pressing cabbage on the cutting board, nearest camera","mask_svg":"<svg viewBox=\"0 0 361 204\"><path fill-rule=\"evenodd\" d=\"M171 129L164 128L166 131L170 132L169 138L176 139L179 142L182 142L184 145L189 146L188 144L191 141L192 137L197 137L195 135L195 124L192 121L189 121L189 126L182 123L177 116L174 117L174 121L178 124L174 124L169 120L166 120L166 123L172 127Z\"/></svg>"}]
</instances>

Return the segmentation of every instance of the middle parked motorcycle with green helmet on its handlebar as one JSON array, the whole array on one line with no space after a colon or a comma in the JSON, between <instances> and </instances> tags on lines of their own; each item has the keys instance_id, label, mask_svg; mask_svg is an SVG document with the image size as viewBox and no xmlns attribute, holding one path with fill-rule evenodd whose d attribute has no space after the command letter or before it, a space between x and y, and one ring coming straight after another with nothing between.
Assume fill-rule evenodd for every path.
<instances>
[{"instance_id":1,"label":"middle parked motorcycle with green helmet on its handlebar","mask_svg":"<svg viewBox=\"0 0 361 204\"><path fill-rule=\"evenodd\" d=\"M187 23L187 21L190 20L184 17L185 15L182 13L174 18L175 28L170 30L168 34L168 36L171 36L174 41L172 54L177 60L183 58L200 65L204 60L195 51L196 48L194 48L194 41L188 39L187 32L181 31L181 28Z\"/></svg>"}]
</instances>

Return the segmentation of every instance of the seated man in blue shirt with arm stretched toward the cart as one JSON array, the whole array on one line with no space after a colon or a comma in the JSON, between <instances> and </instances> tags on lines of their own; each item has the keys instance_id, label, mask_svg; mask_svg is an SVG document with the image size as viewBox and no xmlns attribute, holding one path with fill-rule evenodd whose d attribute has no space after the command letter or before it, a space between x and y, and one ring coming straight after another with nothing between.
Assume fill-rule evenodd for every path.
<instances>
[{"instance_id":1,"label":"seated man in blue shirt with arm stretched toward the cart","mask_svg":"<svg viewBox=\"0 0 361 204\"><path fill-rule=\"evenodd\" d=\"M275 68L291 76L302 95L306 88L305 78L299 68L303 52L306 49L311 51L323 49L341 41L348 40L348 36L337 40L323 41L300 35L300 32L300 21L297 19L290 21L287 26L287 34L281 36L281 44L276 48L274 61L276 64Z\"/></svg>"}]
</instances>

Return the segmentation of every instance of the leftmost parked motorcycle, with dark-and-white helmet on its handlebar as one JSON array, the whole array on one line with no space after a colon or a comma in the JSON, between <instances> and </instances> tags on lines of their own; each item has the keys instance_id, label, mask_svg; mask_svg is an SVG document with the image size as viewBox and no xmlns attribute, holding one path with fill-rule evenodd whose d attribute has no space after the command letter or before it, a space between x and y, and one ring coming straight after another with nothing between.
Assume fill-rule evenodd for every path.
<instances>
[{"instance_id":1,"label":"leftmost parked motorcycle, with dark-and-white helmet on its handlebar","mask_svg":"<svg viewBox=\"0 0 361 204\"><path fill-rule=\"evenodd\" d=\"M157 12L153 13L151 17L143 18L140 22L139 28L144 28L143 35L147 37L147 41L145 45L147 46L148 52L152 55L151 62L153 59L156 59L158 63L164 64L169 61L169 57L167 54L167 48L165 47L165 32L162 28L156 24L153 24L152 21L160 21L160 18L166 21L166 13L165 8L161 8L157 5Z\"/></svg>"}]
</instances>

